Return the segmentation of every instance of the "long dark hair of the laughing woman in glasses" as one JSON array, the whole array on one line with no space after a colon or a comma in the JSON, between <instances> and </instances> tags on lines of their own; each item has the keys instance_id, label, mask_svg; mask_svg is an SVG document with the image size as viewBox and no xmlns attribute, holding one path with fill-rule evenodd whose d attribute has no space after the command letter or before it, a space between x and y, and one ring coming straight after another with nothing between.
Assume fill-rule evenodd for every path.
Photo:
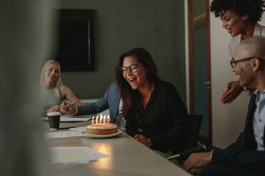
<instances>
[{"instance_id":1,"label":"long dark hair of the laughing woman in glasses","mask_svg":"<svg viewBox=\"0 0 265 176\"><path fill-rule=\"evenodd\" d=\"M145 67L147 80L150 82L154 82L157 78L157 66L150 53L144 48L133 48L132 50L128 50L123 53L118 60L115 69L116 82L120 91L120 97L123 100L123 115L126 120L130 121L130 119L139 119L142 117L142 95L137 89L132 89L130 84L124 79L123 74L119 72L119 68L123 66L124 58L128 56L135 57L135 59ZM130 71L128 70L128 72Z\"/></svg>"}]
</instances>

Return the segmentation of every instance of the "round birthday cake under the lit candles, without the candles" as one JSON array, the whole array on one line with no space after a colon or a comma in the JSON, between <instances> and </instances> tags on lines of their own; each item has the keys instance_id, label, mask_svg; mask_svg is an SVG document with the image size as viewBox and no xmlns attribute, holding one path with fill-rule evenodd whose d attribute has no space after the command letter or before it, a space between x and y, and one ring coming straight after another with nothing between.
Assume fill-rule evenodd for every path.
<instances>
[{"instance_id":1,"label":"round birthday cake under the lit candles, without the candles","mask_svg":"<svg viewBox=\"0 0 265 176\"><path fill-rule=\"evenodd\" d=\"M115 123L98 123L87 126L86 132L96 135L110 135L118 133L118 126Z\"/></svg>"}]
</instances>

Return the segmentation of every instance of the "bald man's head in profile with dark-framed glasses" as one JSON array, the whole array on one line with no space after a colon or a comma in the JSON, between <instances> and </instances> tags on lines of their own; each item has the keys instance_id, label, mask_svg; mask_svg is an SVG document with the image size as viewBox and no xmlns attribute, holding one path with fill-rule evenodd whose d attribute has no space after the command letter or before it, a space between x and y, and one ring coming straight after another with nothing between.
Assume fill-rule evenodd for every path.
<instances>
[{"instance_id":1,"label":"bald man's head in profile with dark-framed glasses","mask_svg":"<svg viewBox=\"0 0 265 176\"><path fill-rule=\"evenodd\" d=\"M254 36L237 45L234 50L234 73L241 87L251 87L259 92L265 89L265 37Z\"/></svg>"}]
</instances>

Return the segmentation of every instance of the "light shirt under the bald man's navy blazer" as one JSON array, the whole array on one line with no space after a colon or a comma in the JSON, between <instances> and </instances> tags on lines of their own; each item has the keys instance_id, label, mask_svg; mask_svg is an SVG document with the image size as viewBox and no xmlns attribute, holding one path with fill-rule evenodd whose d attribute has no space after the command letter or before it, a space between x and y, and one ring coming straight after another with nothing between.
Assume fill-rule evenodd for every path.
<instances>
[{"instance_id":1,"label":"light shirt under the bald man's navy blazer","mask_svg":"<svg viewBox=\"0 0 265 176\"><path fill-rule=\"evenodd\" d=\"M265 90L261 93L256 90L256 110L253 116L254 137L256 140L256 150L264 150L264 126L265 126Z\"/></svg>"}]
</instances>

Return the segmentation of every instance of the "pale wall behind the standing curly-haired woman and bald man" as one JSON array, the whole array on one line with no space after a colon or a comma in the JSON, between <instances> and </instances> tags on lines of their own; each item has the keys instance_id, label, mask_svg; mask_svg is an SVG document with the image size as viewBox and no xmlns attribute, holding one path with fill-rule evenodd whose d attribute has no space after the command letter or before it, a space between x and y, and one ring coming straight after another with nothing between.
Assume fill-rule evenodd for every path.
<instances>
[{"instance_id":1,"label":"pale wall behind the standing curly-haired woman and bald man","mask_svg":"<svg viewBox=\"0 0 265 176\"><path fill-rule=\"evenodd\" d=\"M211 0L209 0L211 1ZM265 16L265 15L264 15ZM261 21L265 23L265 19ZM220 104L219 97L224 92L225 85L237 77L229 64L228 44L230 35L219 18L210 14L211 33L211 66L212 66L212 135L213 145L225 148L233 143L243 131L246 118L246 107L250 97L241 93L232 104Z\"/></svg>"}]
</instances>

